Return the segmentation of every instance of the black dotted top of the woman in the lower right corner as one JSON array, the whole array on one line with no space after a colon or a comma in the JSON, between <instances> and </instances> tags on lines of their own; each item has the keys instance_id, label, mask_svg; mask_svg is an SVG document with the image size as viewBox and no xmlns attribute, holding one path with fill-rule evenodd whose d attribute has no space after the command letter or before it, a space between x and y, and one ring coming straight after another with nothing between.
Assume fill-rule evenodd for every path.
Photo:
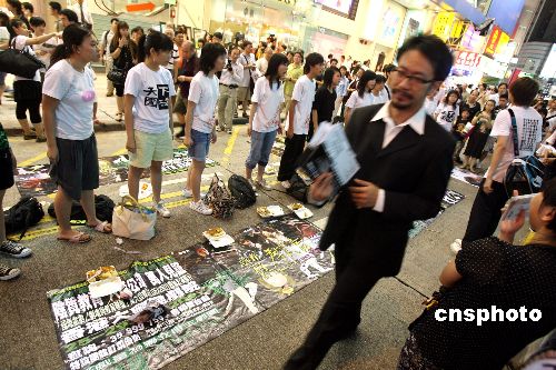
<instances>
[{"instance_id":1,"label":"black dotted top of the woman in the lower right corner","mask_svg":"<svg viewBox=\"0 0 556 370\"><path fill-rule=\"evenodd\" d=\"M556 247L512 246L497 238L464 243L456 257L463 276L410 326L423 356L445 369L502 369L533 340L556 328ZM539 321L437 321L445 309L542 311ZM447 314L446 314L447 316ZM499 319L499 317L498 317Z\"/></svg>"}]
</instances>

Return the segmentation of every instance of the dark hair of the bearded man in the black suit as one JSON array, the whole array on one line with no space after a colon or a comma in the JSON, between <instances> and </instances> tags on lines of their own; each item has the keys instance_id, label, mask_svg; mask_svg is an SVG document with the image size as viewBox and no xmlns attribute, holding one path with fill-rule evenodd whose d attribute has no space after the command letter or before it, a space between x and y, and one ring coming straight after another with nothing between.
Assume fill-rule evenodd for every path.
<instances>
[{"instance_id":1,"label":"dark hair of the bearded man in the black suit","mask_svg":"<svg viewBox=\"0 0 556 370\"><path fill-rule=\"evenodd\" d=\"M396 60L399 62L401 56L410 50L419 51L433 66L435 81L446 80L454 63L454 57L446 43L444 43L439 37L434 34L420 34L407 39L401 48L399 48Z\"/></svg>"}]
</instances>

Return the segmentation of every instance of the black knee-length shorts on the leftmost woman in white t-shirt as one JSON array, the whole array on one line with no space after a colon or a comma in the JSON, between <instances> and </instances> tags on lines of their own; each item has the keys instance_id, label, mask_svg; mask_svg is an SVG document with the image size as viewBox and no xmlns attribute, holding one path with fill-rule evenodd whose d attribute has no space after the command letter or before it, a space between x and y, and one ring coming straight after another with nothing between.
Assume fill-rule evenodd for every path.
<instances>
[{"instance_id":1,"label":"black knee-length shorts on the leftmost woman in white t-shirt","mask_svg":"<svg viewBox=\"0 0 556 370\"><path fill-rule=\"evenodd\" d=\"M99 156L95 133L85 140L56 138L58 163L51 164L50 177L75 200L82 190L99 187Z\"/></svg>"}]
</instances>

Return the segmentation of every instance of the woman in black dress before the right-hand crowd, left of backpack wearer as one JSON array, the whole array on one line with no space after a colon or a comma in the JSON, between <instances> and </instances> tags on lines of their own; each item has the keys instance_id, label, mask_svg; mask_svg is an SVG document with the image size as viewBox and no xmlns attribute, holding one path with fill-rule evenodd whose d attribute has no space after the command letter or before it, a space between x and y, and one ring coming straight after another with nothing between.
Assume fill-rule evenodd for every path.
<instances>
[{"instance_id":1,"label":"woman in black dress before the right-hand crowd, left of backpack wearer","mask_svg":"<svg viewBox=\"0 0 556 370\"><path fill-rule=\"evenodd\" d=\"M467 140L467 146L464 151L464 164L461 168L468 168L471 172L476 172L475 166L483 156L483 150L487 143L490 130L495 119L494 108L496 101L488 100L481 112L478 112L471 121L473 132Z\"/></svg>"}]
</instances>

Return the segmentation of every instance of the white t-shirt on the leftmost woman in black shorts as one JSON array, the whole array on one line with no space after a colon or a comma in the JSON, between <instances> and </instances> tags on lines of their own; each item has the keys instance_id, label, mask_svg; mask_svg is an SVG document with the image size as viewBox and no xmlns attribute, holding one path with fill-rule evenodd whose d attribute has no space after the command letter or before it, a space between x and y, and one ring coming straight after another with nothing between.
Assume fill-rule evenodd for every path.
<instances>
[{"instance_id":1,"label":"white t-shirt on the leftmost woman in black shorts","mask_svg":"<svg viewBox=\"0 0 556 370\"><path fill-rule=\"evenodd\" d=\"M79 72L66 59L47 71L42 93L60 101L54 112L57 138L86 140L92 134L93 79L92 69Z\"/></svg>"}]
</instances>

